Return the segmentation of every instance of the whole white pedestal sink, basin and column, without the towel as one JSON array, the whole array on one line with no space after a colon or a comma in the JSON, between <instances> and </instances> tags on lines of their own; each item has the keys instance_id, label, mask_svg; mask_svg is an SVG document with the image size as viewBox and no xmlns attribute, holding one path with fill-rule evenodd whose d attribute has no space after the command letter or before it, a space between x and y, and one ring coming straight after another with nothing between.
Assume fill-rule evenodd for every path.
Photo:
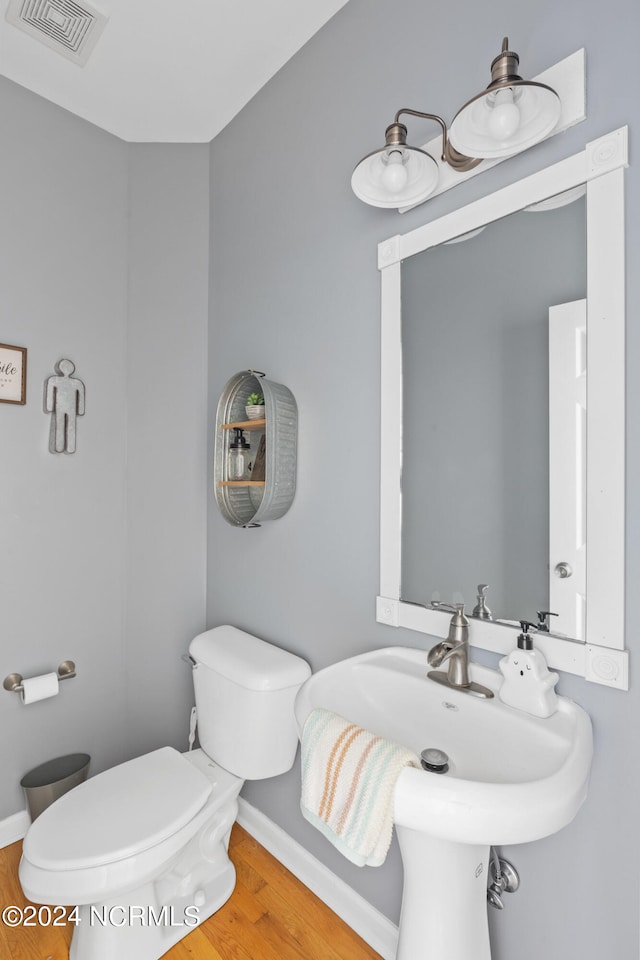
<instances>
[{"instance_id":1,"label":"whole white pedestal sink, basin and column, without the towel","mask_svg":"<svg viewBox=\"0 0 640 960\"><path fill-rule=\"evenodd\" d=\"M418 756L449 757L445 774L405 768L395 787L394 823L404 866L398 960L490 960L489 847L549 836L574 818L587 795L591 721L558 698L546 719L502 703L502 675L470 664L472 680L496 696L481 700L442 687L423 650L387 647L310 677L295 703L300 732L316 707L394 740Z\"/></svg>"}]
</instances>

